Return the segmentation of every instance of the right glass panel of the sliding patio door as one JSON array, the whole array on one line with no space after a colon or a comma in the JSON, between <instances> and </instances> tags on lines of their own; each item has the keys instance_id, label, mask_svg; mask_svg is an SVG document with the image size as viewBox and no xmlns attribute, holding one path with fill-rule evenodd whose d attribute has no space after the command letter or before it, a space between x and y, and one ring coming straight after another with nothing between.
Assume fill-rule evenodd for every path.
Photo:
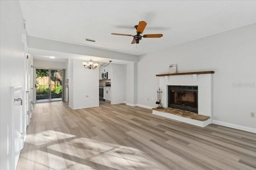
<instances>
[{"instance_id":1,"label":"right glass panel of the sliding patio door","mask_svg":"<svg viewBox=\"0 0 256 170\"><path fill-rule=\"evenodd\" d=\"M51 100L62 100L62 70L51 70Z\"/></svg>"}]
</instances>

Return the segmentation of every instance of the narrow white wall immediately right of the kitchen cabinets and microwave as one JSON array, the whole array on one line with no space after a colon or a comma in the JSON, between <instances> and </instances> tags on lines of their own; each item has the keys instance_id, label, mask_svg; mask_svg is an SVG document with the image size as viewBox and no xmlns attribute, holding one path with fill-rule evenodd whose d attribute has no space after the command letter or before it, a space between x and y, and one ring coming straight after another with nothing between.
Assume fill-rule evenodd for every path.
<instances>
[{"instance_id":1,"label":"narrow white wall immediately right of the kitchen cabinets and microwave","mask_svg":"<svg viewBox=\"0 0 256 170\"><path fill-rule=\"evenodd\" d=\"M124 103L126 100L126 65L110 64L108 70L112 69L111 78L111 104Z\"/></svg>"}]
</instances>

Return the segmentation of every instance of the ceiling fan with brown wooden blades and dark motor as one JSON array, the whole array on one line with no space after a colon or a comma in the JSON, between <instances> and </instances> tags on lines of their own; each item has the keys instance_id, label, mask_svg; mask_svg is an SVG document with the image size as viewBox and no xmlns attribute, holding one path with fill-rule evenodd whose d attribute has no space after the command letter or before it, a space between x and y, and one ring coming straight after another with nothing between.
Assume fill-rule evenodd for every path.
<instances>
[{"instance_id":1,"label":"ceiling fan with brown wooden blades and dark motor","mask_svg":"<svg viewBox=\"0 0 256 170\"><path fill-rule=\"evenodd\" d=\"M133 40L131 44L138 44L140 43L140 40L143 38L160 38L163 35L162 34L145 34L140 35L143 33L147 23L145 21L140 21L138 25L135 25L135 29L137 30L137 35L130 35L130 34L118 34L118 33L111 33L112 35L123 35L123 36L132 36Z\"/></svg>"}]
</instances>

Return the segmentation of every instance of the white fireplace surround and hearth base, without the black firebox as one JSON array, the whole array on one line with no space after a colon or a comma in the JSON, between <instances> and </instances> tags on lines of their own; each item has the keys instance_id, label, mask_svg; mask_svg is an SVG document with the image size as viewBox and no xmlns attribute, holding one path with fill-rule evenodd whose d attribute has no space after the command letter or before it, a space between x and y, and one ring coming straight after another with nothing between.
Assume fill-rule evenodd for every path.
<instances>
[{"instance_id":1,"label":"white fireplace surround and hearth base, without the black firebox","mask_svg":"<svg viewBox=\"0 0 256 170\"><path fill-rule=\"evenodd\" d=\"M153 110L152 113L170 119L205 127L212 123L212 74L185 74L160 76L159 87L162 89L163 107L168 107L168 86L198 86L198 114L210 116L206 121L181 117L170 113Z\"/></svg>"}]
</instances>

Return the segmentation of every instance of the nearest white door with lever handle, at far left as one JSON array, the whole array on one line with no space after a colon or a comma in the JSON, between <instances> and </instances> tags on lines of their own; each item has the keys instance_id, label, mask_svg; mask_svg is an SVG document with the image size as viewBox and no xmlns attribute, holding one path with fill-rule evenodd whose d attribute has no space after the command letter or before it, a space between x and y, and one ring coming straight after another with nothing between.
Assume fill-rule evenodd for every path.
<instances>
[{"instance_id":1,"label":"nearest white door with lever handle, at far left","mask_svg":"<svg viewBox=\"0 0 256 170\"><path fill-rule=\"evenodd\" d=\"M13 91L13 112L12 112L12 154L14 158L14 168L16 168L20 156L20 150L23 148L23 120L22 115L22 86L12 88Z\"/></svg>"}]
</instances>

